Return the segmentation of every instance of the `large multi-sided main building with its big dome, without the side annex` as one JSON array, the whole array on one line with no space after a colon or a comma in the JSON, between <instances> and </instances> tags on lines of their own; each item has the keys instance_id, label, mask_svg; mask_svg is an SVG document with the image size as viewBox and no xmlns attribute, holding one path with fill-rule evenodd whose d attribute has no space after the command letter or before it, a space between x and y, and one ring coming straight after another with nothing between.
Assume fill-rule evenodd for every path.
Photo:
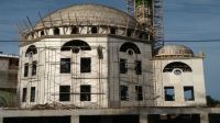
<instances>
[{"instance_id":1,"label":"large multi-sided main building with its big dome, without the side annex","mask_svg":"<svg viewBox=\"0 0 220 123\"><path fill-rule=\"evenodd\" d=\"M84 18L80 14L74 15L75 9L97 13L92 18ZM102 22L107 20L105 18L102 21L92 20L89 25L66 25L64 19L70 22L78 19L85 23L90 18L106 16L99 9L105 9L106 14L112 15L108 23ZM35 32L28 33L21 42L18 86L21 108L52 103L76 108L153 105L150 94L153 93L151 43L146 32L136 26L135 19L119 10L95 4L73 5L59 12L64 20L57 22L61 25L53 21L57 20L57 12L51 13L54 26L47 22L38 22ZM67 14L70 14L69 18ZM129 21L117 20L118 15ZM46 20L48 21L48 16L43 19ZM77 27L77 32L73 34L74 27ZM81 68L87 66L82 65L81 58L89 58L89 72L81 72ZM62 64L68 64L62 59L70 62L68 68L65 68L68 71L62 72ZM84 101L82 86L89 88L86 93L89 99ZM69 99L65 101L61 99L62 87L69 88L66 92Z\"/></svg>"}]
</instances>

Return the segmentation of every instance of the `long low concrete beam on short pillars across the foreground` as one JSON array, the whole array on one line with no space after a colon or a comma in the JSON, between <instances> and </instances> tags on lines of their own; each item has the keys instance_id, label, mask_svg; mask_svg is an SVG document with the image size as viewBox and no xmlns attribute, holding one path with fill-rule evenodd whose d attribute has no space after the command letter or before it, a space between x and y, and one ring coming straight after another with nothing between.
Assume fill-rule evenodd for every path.
<instances>
[{"instance_id":1,"label":"long low concrete beam on short pillars across the foreground","mask_svg":"<svg viewBox=\"0 0 220 123\"><path fill-rule=\"evenodd\" d=\"M219 113L219 108L139 108L139 109L75 109L75 110L2 110L2 118L62 116L70 115L72 123L79 123L80 115L140 115L140 123L148 123L150 114L199 114L200 123L209 123L209 113Z\"/></svg>"}]
</instances>

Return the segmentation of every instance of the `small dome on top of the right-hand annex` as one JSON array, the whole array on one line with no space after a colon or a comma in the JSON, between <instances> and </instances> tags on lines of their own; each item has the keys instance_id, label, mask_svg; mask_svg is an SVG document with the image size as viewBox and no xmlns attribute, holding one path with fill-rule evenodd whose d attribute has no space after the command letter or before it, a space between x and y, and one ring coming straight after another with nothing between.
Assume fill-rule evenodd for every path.
<instances>
[{"instance_id":1,"label":"small dome on top of the right-hand annex","mask_svg":"<svg viewBox=\"0 0 220 123\"><path fill-rule=\"evenodd\" d=\"M194 52L184 45L165 45L157 49L156 57L193 57Z\"/></svg>"}]
</instances>

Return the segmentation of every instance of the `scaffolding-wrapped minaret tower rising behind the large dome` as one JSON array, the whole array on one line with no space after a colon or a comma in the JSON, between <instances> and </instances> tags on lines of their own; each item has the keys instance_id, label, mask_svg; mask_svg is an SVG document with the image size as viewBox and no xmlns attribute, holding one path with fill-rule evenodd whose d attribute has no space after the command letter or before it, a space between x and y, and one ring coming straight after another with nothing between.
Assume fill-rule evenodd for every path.
<instances>
[{"instance_id":1,"label":"scaffolding-wrapped minaret tower rising behind the large dome","mask_svg":"<svg viewBox=\"0 0 220 123\"><path fill-rule=\"evenodd\" d=\"M164 45L163 0L125 0L127 12L152 36L153 54Z\"/></svg>"}]
</instances>

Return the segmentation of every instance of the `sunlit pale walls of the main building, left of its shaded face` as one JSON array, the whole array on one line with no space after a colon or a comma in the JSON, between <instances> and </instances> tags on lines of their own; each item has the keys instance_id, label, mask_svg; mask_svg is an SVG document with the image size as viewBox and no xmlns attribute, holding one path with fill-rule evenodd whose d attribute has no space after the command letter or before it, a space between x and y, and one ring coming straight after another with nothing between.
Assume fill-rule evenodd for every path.
<instances>
[{"instance_id":1,"label":"sunlit pale walls of the main building, left of its shaded face","mask_svg":"<svg viewBox=\"0 0 220 123\"><path fill-rule=\"evenodd\" d=\"M68 41L81 40L91 46L91 51L73 54L61 52L61 46ZM22 89L28 88L26 103L21 103L22 108L34 104L45 104L59 102L59 86L70 86L70 101L62 102L63 104L74 104L75 107L101 107L106 108L107 103L107 38L106 37L85 37L85 38L45 38L33 45L37 48L37 54L33 57L25 57L25 51L30 45L21 47L21 74L20 74L20 98ZM98 59L97 47L103 47L103 59ZM91 57L91 72L80 74L80 57ZM59 74L61 58L72 59L72 72ZM24 77L24 64L37 60L37 74ZM30 67L31 72L31 67ZM91 86L91 101L79 101L80 85ZM36 87L36 101L30 102L30 89Z\"/></svg>"}]
</instances>

